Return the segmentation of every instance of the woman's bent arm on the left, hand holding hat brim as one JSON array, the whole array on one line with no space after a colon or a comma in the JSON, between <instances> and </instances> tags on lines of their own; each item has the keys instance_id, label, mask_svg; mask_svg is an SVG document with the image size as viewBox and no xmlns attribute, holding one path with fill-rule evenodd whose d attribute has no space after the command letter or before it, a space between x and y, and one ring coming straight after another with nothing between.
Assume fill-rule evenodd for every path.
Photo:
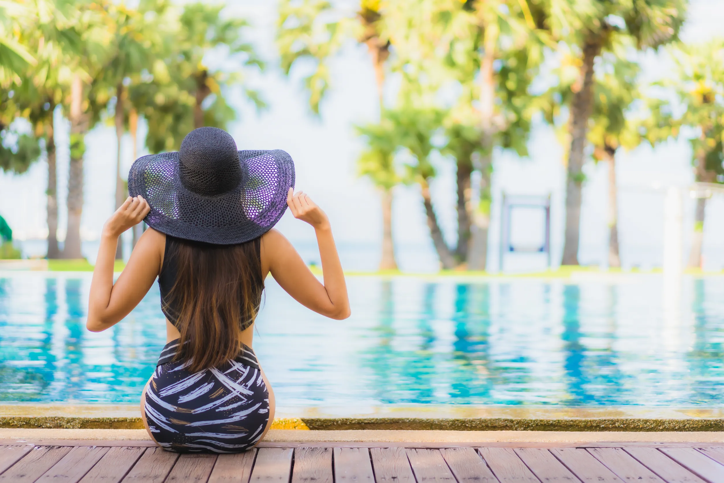
<instances>
[{"instance_id":1,"label":"woman's bent arm on the left, hand holding hat brim","mask_svg":"<svg viewBox=\"0 0 724 483\"><path fill-rule=\"evenodd\" d=\"M113 327L127 316L143 299L159 274L164 235L156 230L146 230L133 248L125 269L113 283L113 264L119 236L143 220L150 210L146 200L140 196L129 196L104 224L93 280L90 282L88 320L85 323L85 327L92 332Z\"/></svg>"}]
</instances>

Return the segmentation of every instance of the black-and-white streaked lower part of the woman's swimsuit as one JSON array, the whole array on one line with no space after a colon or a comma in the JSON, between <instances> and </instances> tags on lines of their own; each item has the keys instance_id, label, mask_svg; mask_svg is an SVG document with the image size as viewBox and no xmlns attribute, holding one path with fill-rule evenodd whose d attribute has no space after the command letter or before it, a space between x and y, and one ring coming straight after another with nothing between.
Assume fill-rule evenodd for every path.
<instances>
[{"instance_id":1,"label":"black-and-white streaked lower part of the woman's swimsuit","mask_svg":"<svg viewBox=\"0 0 724 483\"><path fill-rule=\"evenodd\" d=\"M173 361L178 340L161 351L144 408L161 447L178 452L237 453L258 442L269 422L269 390L254 351L243 345L234 360L191 373Z\"/></svg>"}]
</instances>

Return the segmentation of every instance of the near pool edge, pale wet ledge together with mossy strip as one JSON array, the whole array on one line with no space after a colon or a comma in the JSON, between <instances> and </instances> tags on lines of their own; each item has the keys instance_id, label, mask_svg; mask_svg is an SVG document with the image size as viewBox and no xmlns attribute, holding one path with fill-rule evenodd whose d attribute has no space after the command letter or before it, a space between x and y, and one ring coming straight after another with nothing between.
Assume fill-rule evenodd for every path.
<instances>
[{"instance_id":1,"label":"near pool edge, pale wet ledge together with mossy strip","mask_svg":"<svg viewBox=\"0 0 724 483\"><path fill-rule=\"evenodd\" d=\"M135 405L0 405L0 428L143 429ZM655 406L284 406L273 429L719 432L724 408Z\"/></svg>"}]
</instances>

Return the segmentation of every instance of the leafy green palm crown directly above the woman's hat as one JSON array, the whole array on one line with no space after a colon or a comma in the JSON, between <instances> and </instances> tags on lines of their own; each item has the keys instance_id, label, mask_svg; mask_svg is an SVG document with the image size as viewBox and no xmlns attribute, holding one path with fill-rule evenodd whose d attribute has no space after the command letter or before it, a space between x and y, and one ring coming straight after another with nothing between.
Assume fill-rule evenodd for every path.
<instances>
[{"instance_id":1,"label":"leafy green palm crown directly above the woman's hat","mask_svg":"<svg viewBox=\"0 0 724 483\"><path fill-rule=\"evenodd\" d=\"M226 128L235 110L224 98L224 88L243 89L257 109L264 108L260 94L243 77L248 68L264 69L251 43L243 38L248 22L224 20L222 7L186 4L177 30L167 29L164 59L156 60L138 83L128 88L132 109L148 123L146 147L151 153L174 151L196 127ZM203 60L211 49L228 51L227 70L212 69Z\"/></svg>"}]
</instances>

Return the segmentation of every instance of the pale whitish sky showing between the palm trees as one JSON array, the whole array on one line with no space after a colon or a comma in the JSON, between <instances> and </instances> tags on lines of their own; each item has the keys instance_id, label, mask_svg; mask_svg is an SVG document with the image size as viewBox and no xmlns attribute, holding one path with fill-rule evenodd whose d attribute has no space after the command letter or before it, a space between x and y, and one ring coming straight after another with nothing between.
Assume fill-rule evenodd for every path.
<instances>
[{"instance_id":1,"label":"pale whitish sky showing between the palm trees","mask_svg":"<svg viewBox=\"0 0 724 483\"><path fill-rule=\"evenodd\" d=\"M366 48L350 43L331 64L332 85L321 104L321 117L313 117L306 104L300 81L301 69L285 77L278 66L274 46L276 2L236 0L227 3L225 14L245 17L253 25L249 32L261 56L266 72L248 73L248 82L264 94L269 109L258 113L239 89L229 91L229 100L237 108L238 119L228 128L240 149L283 149L295 160L297 189L301 189L324 209L332 222L340 246L342 264L347 269L375 269L379 261L382 220L379 197L368 180L355 173L355 160L363 145L354 133L354 125L373 122L379 117L374 72ZM686 42L714 37L724 24L724 2L693 0L689 20L683 29ZM213 59L212 59L213 62ZM657 75L668 67L649 59L646 70ZM59 172L59 238L64 238L65 197L67 196L67 122L60 112L56 117ZM143 130L143 127L141 127ZM143 132L139 133L143 139ZM111 125L100 125L86 137L85 204L81 235L88 243L84 251L95 259L94 240L113 211L115 133ZM138 156L145 154L142 151ZM551 197L551 242L553 263L563 250L565 169L563 148L550 127L536 126L529 142L530 155L519 158L507 153L494 156L492 177L492 226L489 234L489 264L500 269L500 206L502 193ZM130 138L122 145L123 171L132 164ZM455 170L452 162L434 160L439 176L432 185L432 196L447 240L455 241ZM690 151L686 142L665 143L655 149L641 146L617 157L619 184L620 245L625 267L650 268L661 264L663 230L663 190L667 185L686 186L693 180ZM607 250L607 167L589 162L584 168L581 211L582 264L605 263ZM14 235L28 254L44 253L42 240L47 235L46 164L38 162L25 175L0 174L0 215L7 219ZM686 201L685 226L692 224L694 203ZM521 243L540 238L536 214L518 213L513 221L513 238ZM704 265L724 267L724 200L712 198L707 208L704 236ZM398 261L402 269L429 272L437 269L437 258L429 240L424 209L416 186L396 188L393 207L393 232ZM307 261L319 259L313 230L293 219L287 212L277 225ZM685 239L688 245L688 236ZM537 269L545 265L540 254L513 253L505 256L506 270Z\"/></svg>"}]
</instances>

